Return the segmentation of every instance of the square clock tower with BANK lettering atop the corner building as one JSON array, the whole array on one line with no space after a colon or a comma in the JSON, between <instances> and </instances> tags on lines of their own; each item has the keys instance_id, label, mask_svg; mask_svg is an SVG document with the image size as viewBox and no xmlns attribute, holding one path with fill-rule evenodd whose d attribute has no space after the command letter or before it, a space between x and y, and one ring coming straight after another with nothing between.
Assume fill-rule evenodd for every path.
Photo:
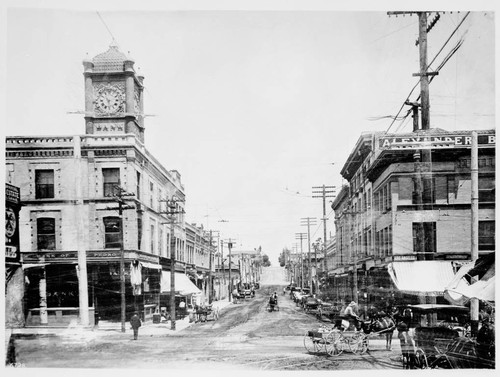
<instances>
[{"instance_id":1,"label":"square clock tower with BANK lettering atop the corner building","mask_svg":"<svg viewBox=\"0 0 500 377\"><path fill-rule=\"evenodd\" d=\"M133 133L144 143L144 77L136 74L134 61L112 44L83 66L85 133Z\"/></svg>"}]
</instances>

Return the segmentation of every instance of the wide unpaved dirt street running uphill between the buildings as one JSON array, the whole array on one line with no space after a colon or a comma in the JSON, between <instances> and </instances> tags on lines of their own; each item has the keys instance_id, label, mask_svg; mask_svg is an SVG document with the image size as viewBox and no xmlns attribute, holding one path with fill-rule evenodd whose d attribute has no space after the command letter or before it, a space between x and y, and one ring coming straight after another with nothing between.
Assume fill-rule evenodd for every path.
<instances>
[{"instance_id":1,"label":"wide unpaved dirt street running uphill between the buildings","mask_svg":"<svg viewBox=\"0 0 500 377\"><path fill-rule=\"evenodd\" d=\"M345 370L398 369L399 345L385 351L384 342L370 342L366 355L338 357L309 354L303 334L322 323L304 314L288 296L279 295L279 312L266 311L268 293L282 286L263 286L256 297L222 310L218 321L196 323L168 335L130 330L95 330L77 337L57 335L16 340L18 364L55 368L182 368ZM166 326L166 325L165 325ZM144 334L144 331L143 331Z\"/></svg>"}]
</instances>

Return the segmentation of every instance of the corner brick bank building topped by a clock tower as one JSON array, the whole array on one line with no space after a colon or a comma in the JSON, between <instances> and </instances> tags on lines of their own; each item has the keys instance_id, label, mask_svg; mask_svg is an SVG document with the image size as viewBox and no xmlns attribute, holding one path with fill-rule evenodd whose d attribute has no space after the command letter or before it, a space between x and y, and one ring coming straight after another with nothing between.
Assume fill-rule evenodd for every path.
<instances>
[{"instance_id":1,"label":"corner brick bank building topped by a clock tower","mask_svg":"<svg viewBox=\"0 0 500 377\"><path fill-rule=\"evenodd\" d=\"M30 324L78 315L85 322L85 307L90 323L94 310L101 319L119 318L121 260L127 315L139 309L147 319L168 305L163 280L171 245L176 276L198 268L192 250L186 253L181 176L144 145L143 77L134 61L111 46L83 65L84 135L6 140L6 182L20 187L24 205L20 250ZM172 229L165 212L173 199Z\"/></svg>"}]
</instances>

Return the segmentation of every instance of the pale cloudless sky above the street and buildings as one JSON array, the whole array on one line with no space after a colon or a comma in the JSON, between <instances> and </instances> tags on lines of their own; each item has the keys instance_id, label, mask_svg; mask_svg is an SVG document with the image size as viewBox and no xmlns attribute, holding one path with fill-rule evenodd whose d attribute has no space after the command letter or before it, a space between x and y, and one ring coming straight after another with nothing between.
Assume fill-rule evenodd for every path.
<instances>
[{"instance_id":1,"label":"pale cloudless sky above the street and buildings","mask_svg":"<svg viewBox=\"0 0 500 377\"><path fill-rule=\"evenodd\" d=\"M419 70L418 18L389 17L404 9L395 3L6 3L6 135L84 134L82 61L114 39L145 77L145 145L180 172L186 219L235 239L237 249L261 246L273 265L299 242L296 233L307 232L302 218L317 219L311 241L323 236L322 201L312 188L339 191L361 132L412 129L410 117L392 125L387 118ZM431 64L435 70L463 39L430 85L431 127L495 128L498 38L495 14L485 11L494 2L430 4L422 9L448 12L429 32L429 61L474 10ZM417 87L410 100L418 94ZM328 234L331 212L327 203Z\"/></svg>"}]
</instances>

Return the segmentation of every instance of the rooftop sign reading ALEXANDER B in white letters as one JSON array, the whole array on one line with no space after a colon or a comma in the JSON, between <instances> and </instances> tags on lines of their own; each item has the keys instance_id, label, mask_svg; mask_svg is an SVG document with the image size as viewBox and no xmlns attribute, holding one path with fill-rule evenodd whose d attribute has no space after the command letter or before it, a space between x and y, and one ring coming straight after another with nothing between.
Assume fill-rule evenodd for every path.
<instances>
[{"instance_id":1,"label":"rooftop sign reading ALEXANDER B in white letters","mask_svg":"<svg viewBox=\"0 0 500 377\"><path fill-rule=\"evenodd\" d=\"M446 148L470 148L472 136L470 133L462 135L439 136L398 136L380 137L378 146L381 149L446 149ZM478 147L495 146L495 134L477 135Z\"/></svg>"}]
</instances>

